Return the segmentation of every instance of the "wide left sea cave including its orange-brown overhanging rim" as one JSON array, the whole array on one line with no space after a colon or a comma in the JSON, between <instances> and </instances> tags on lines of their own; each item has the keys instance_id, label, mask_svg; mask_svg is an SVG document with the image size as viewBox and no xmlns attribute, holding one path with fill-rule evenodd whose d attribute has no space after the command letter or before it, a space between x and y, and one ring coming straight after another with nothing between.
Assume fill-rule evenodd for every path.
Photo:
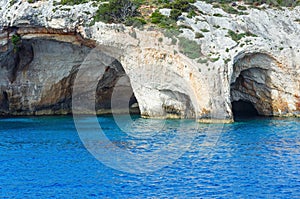
<instances>
[{"instance_id":1,"label":"wide left sea cave including its orange-brown overhanging rim","mask_svg":"<svg viewBox=\"0 0 300 199\"><path fill-rule=\"evenodd\" d=\"M10 115L52 115L72 113L72 88L76 74L85 58L95 47L92 42L78 40L74 35L52 33L30 33L22 35L22 44L12 53L8 68L7 86L1 88L7 106L1 107L3 114ZM8 51L13 51L8 46ZM139 107L133 93L130 80L121 63L112 58L105 66L102 79L99 80L95 109L97 114L111 113L111 94L116 82L118 101L121 106L116 113L127 113L128 108L139 114ZM99 69L100 70L100 69ZM28 81L30 79L30 82ZM84 90L83 90L84 92ZM127 101L127 104L126 104ZM126 105L127 107L126 107ZM4 110L5 109L5 110Z\"/></svg>"}]
</instances>

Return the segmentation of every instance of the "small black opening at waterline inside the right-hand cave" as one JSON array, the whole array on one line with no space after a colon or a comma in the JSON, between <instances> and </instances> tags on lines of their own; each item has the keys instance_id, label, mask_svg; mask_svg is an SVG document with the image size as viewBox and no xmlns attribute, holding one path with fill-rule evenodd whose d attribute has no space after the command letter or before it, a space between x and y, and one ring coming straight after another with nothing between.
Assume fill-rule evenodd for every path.
<instances>
[{"instance_id":1,"label":"small black opening at waterline inside the right-hand cave","mask_svg":"<svg viewBox=\"0 0 300 199\"><path fill-rule=\"evenodd\" d=\"M259 116L254 105L249 101L233 101L231 106L234 119L253 118Z\"/></svg>"}]
</instances>

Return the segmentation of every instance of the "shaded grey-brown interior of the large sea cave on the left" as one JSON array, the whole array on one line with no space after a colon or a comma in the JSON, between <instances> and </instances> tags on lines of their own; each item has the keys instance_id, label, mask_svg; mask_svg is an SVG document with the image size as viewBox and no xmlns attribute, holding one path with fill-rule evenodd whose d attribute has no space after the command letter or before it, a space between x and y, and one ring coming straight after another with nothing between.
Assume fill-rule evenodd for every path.
<instances>
[{"instance_id":1,"label":"shaded grey-brown interior of the large sea cave on the left","mask_svg":"<svg viewBox=\"0 0 300 199\"><path fill-rule=\"evenodd\" d=\"M71 37L71 36L69 36ZM71 40L71 39L70 39ZM97 115L103 114L137 114L140 115L138 101L133 93L130 79L126 74L122 64L115 58L109 65L99 64L101 59L90 56L93 48L85 45L77 45L70 42L58 41L47 38L23 39L17 51L17 58L12 57L10 64L12 68L9 73L11 84L20 84L24 89L22 93L13 91L13 96L7 96L5 90L0 95L0 112L6 109L4 102L15 96L22 96L24 103L17 103L18 107L11 106L11 112L19 111L37 115L61 115L72 113L72 94L74 81L81 65L85 60L95 63L95 70L101 72L102 78L97 84L95 95L95 106L93 111ZM101 51L99 51L101 53ZM109 57L107 55L107 57ZM103 57L106 60L107 57ZM86 63L89 63L89 62ZM102 68L104 67L104 68ZM49 69L49 70L48 70ZM63 72L60 72L63 71ZM29 80L26 74L30 74L30 80L34 84L27 83ZM64 75L62 75L64 74ZM91 72L92 74L92 72ZM86 77L82 83L79 95L88 98L89 87L84 86L84 82L89 82ZM44 85L47 86L44 86ZM36 90L36 88L38 88ZM1 90L0 90L1 91ZM16 93L16 94L14 94ZM29 95L35 93L35 95ZM112 97L117 93L116 97ZM95 94L95 90L93 90ZM114 98L114 106L112 106ZM84 102L84 100L83 100ZM3 108L3 106L5 107ZM112 111L114 109L114 111ZM82 111L85 114L85 111Z\"/></svg>"}]
</instances>

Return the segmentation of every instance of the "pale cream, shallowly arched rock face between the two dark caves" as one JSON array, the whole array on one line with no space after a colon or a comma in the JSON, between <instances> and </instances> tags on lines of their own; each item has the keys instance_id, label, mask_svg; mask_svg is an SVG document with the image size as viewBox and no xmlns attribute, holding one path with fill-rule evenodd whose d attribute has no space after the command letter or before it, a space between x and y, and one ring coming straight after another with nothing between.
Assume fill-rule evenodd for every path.
<instances>
[{"instance_id":1,"label":"pale cream, shallowly arched rock face between the two dark caves","mask_svg":"<svg viewBox=\"0 0 300 199\"><path fill-rule=\"evenodd\" d=\"M190 72L194 69L179 55L174 55L173 50L152 46L128 48L122 50L120 57L142 117L196 118L197 99L191 81L198 80ZM187 72L183 73L184 70Z\"/></svg>"}]
</instances>

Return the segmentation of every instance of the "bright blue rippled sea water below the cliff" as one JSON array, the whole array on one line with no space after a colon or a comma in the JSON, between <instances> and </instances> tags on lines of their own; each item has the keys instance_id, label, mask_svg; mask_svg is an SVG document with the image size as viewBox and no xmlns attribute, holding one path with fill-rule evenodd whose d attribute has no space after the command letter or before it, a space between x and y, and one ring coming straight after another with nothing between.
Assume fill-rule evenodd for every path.
<instances>
[{"instance_id":1,"label":"bright blue rippled sea water below the cliff","mask_svg":"<svg viewBox=\"0 0 300 199\"><path fill-rule=\"evenodd\" d=\"M160 122L135 118L140 136L98 119L116 146L135 153L157 150L174 133L195 138L179 159L138 175L95 159L72 117L0 119L0 198L300 198L299 119L170 120L149 135Z\"/></svg>"}]
</instances>

